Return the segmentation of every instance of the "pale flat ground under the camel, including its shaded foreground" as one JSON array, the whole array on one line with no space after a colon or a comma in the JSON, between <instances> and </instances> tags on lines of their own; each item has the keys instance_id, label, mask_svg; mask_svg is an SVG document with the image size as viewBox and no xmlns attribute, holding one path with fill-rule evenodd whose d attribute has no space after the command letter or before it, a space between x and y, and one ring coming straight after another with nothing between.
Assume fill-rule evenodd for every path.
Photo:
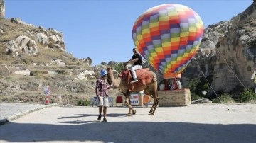
<instances>
[{"instance_id":1,"label":"pale flat ground under the camel, including its shaded foreground","mask_svg":"<svg viewBox=\"0 0 256 143\"><path fill-rule=\"evenodd\" d=\"M256 104L108 108L109 122L97 121L97 108L43 108L0 126L0 142L247 142L256 140Z\"/></svg>"}]
</instances>

